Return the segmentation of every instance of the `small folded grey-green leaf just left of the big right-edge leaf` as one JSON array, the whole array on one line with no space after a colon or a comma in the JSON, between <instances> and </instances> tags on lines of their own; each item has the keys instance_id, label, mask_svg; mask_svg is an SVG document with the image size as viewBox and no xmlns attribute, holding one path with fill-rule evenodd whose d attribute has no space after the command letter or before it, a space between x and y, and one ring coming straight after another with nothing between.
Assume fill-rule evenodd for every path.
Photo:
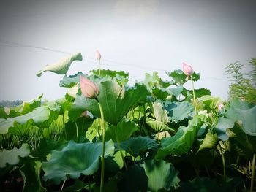
<instances>
[{"instance_id":1,"label":"small folded grey-green leaf just left of the big right-edge leaf","mask_svg":"<svg viewBox=\"0 0 256 192\"><path fill-rule=\"evenodd\" d=\"M219 118L218 123L214 128L218 138L221 139L222 141L227 141L228 139L228 136L226 134L227 128L233 128L234 123L235 123L234 120L224 118L224 117Z\"/></svg>"}]
</instances>

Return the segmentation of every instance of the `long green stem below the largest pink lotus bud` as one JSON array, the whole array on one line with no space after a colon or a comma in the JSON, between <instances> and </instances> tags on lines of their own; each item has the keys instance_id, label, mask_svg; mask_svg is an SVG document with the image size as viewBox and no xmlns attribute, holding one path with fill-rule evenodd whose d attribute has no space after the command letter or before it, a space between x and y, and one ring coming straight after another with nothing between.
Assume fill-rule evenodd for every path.
<instances>
[{"instance_id":1,"label":"long green stem below the largest pink lotus bud","mask_svg":"<svg viewBox=\"0 0 256 192\"><path fill-rule=\"evenodd\" d=\"M105 155L105 120L104 120L104 114L102 110L102 105L98 102L99 105L99 111L100 111L100 118L102 120L101 126L102 126L102 170L101 170L101 176L100 176L100 192L103 191L104 187L104 155Z\"/></svg>"}]
</instances>

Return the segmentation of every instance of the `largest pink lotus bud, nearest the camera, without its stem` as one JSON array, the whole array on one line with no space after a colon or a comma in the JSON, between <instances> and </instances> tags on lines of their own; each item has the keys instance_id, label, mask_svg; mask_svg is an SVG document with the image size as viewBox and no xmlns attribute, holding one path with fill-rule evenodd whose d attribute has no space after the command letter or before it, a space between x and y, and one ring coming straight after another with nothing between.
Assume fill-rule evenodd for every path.
<instances>
[{"instance_id":1,"label":"largest pink lotus bud, nearest the camera, without its stem","mask_svg":"<svg viewBox=\"0 0 256 192\"><path fill-rule=\"evenodd\" d=\"M80 88L83 96L87 98L93 99L99 95L98 86L94 82L82 76L80 76Z\"/></svg>"}]
</instances>

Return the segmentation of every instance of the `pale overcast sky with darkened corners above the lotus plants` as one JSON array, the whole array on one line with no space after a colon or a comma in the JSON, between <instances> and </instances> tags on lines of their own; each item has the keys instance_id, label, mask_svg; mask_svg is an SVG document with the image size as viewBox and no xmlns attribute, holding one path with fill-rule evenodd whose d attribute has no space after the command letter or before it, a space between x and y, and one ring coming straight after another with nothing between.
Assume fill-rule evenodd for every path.
<instances>
[{"instance_id":1,"label":"pale overcast sky with darkened corners above the lotus plants","mask_svg":"<svg viewBox=\"0 0 256 192\"><path fill-rule=\"evenodd\" d=\"M146 72L199 72L195 88L227 99L225 66L256 57L256 1L0 1L0 100L64 96L63 75L39 69L81 52L68 74L102 68L129 72L130 84ZM59 50L59 52L54 51ZM63 53L64 52L64 53ZM189 85L187 85L189 88Z\"/></svg>"}]
</instances>

